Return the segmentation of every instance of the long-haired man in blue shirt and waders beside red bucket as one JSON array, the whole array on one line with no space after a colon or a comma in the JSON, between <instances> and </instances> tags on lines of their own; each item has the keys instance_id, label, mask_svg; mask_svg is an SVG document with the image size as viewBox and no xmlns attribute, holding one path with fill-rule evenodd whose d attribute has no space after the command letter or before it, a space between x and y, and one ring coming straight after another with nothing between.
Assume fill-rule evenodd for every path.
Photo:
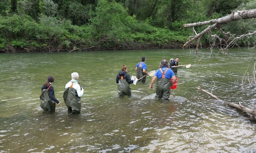
<instances>
[{"instance_id":1,"label":"long-haired man in blue shirt and waders beside red bucket","mask_svg":"<svg viewBox=\"0 0 256 153\"><path fill-rule=\"evenodd\" d=\"M150 89L153 89L153 84L156 80L156 98L164 98L169 100L171 94L171 85L175 83L176 80L174 72L169 68L167 60L162 60L159 69L156 71L155 76L152 78L150 83Z\"/></svg>"}]
</instances>

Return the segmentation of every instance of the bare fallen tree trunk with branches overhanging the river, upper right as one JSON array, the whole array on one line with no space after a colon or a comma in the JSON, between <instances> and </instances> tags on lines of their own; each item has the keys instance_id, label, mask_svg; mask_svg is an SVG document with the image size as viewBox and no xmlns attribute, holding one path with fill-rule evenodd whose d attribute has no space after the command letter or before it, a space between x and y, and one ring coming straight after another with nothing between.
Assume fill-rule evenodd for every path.
<instances>
[{"instance_id":1,"label":"bare fallen tree trunk with branches overhanging the river, upper right","mask_svg":"<svg viewBox=\"0 0 256 153\"><path fill-rule=\"evenodd\" d=\"M200 39L202 36L206 33L209 33L209 43L210 43L210 49L218 48L220 51L222 51L224 54L227 54L227 51L229 48L232 48L234 46L238 46L237 41L241 39L249 39L251 36L256 35L255 31L246 31L242 35L235 36L235 34L231 34L230 32L224 32L222 27L224 24L227 24L232 21L237 21L241 19L249 19L249 18L256 18L256 9L253 10L245 10L245 11L237 11L233 12L228 16L218 18L218 19L212 19L209 21L204 22L197 22L197 23L191 23L191 24L184 24L183 27L195 27L195 26L202 26L206 24L212 24L211 26L208 26L206 29L202 30L200 33L196 33L196 31L193 28L193 32L195 35L190 36L187 40L187 42L183 45L183 48L188 47L191 42L194 40L196 41L196 52L198 51L198 47L200 44ZM251 21L251 23L254 21L254 19ZM250 24L251 24L250 23ZM222 36L214 34L212 35L212 30L218 29L220 34ZM210 39L212 38L212 39ZM250 42L249 42L250 43ZM252 45L253 44L253 45ZM256 46L256 42L253 42L252 45L254 48Z\"/></svg>"}]
</instances>

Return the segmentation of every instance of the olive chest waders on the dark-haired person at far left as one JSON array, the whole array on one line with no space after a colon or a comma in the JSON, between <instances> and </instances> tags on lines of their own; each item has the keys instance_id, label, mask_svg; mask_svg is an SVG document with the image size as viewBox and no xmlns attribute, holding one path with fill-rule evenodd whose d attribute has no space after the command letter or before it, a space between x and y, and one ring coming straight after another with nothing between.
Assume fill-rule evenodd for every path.
<instances>
[{"instance_id":1,"label":"olive chest waders on the dark-haired person at far left","mask_svg":"<svg viewBox=\"0 0 256 153\"><path fill-rule=\"evenodd\" d=\"M40 106L46 112L55 112L55 102L52 101L49 97L50 86L47 89L44 89L42 91L42 94L40 96L40 100L41 100ZM53 96L55 97L55 95Z\"/></svg>"}]
</instances>

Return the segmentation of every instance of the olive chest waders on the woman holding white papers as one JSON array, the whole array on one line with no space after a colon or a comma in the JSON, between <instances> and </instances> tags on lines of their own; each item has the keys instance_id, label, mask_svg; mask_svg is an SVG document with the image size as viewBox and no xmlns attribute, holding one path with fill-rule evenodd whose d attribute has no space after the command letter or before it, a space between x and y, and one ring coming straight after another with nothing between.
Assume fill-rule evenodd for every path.
<instances>
[{"instance_id":1,"label":"olive chest waders on the woman holding white papers","mask_svg":"<svg viewBox=\"0 0 256 153\"><path fill-rule=\"evenodd\" d=\"M123 97L125 95L132 96L132 91L130 90L130 84L128 84L128 82L125 79L123 79L123 75L121 76L121 79L119 79L118 81L117 90L118 90L118 95L120 97Z\"/></svg>"}]
</instances>

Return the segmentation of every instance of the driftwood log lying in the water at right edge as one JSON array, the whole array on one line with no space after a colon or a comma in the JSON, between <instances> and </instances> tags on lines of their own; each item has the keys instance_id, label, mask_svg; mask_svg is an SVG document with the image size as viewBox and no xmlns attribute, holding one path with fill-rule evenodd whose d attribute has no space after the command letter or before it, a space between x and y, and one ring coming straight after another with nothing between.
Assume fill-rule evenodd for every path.
<instances>
[{"instance_id":1,"label":"driftwood log lying in the water at right edge","mask_svg":"<svg viewBox=\"0 0 256 153\"><path fill-rule=\"evenodd\" d=\"M208 91L206 91L206 90L201 89L201 87L199 87L199 86L196 87L196 89L205 92L207 95L212 96L212 97L215 98L216 100L220 100L217 96L211 94L210 92L208 92ZM232 103L232 102L225 102L225 101L224 101L223 103L226 104L226 105L228 105L229 107L236 108L236 109L240 109L241 111L247 112L247 113L249 113L249 114L251 114L251 115L256 115L256 109L252 110L252 109L250 109L250 108L244 107L244 106L242 106L242 105L240 104L240 102L239 102L239 104L235 104L235 103Z\"/></svg>"}]
</instances>

